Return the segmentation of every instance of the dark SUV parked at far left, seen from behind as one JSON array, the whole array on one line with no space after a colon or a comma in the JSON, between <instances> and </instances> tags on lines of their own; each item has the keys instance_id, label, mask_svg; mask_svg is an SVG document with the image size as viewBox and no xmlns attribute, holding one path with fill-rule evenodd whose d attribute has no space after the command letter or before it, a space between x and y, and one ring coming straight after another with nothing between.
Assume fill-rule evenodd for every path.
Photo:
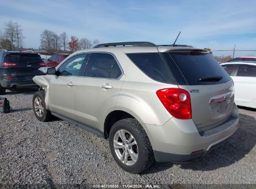
<instances>
[{"instance_id":1,"label":"dark SUV parked at far left, seen from behind","mask_svg":"<svg viewBox=\"0 0 256 189\"><path fill-rule=\"evenodd\" d=\"M32 78L44 75L46 64L37 53L0 50L0 94L8 88L36 86Z\"/></svg>"}]
</instances>

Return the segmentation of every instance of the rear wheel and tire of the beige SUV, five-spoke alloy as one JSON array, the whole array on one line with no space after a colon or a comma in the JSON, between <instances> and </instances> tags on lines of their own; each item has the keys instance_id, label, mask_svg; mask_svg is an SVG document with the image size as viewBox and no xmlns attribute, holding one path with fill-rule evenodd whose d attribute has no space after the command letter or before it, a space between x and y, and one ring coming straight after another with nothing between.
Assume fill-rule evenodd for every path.
<instances>
[{"instance_id":1,"label":"rear wheel and tire of the beige SUV, five-spoke alloy","mask_svg":"<svg viewBox=\"0 0 256 189\"><path fill-rule=\"evenodd\" d=\"M120 137L122 133L125 134L123 136L125 138ZM125 144L123 141L128 141L128 143ZM154 154L149 138L136 119L128 118L115 122L110 129L108 142L113 158L126 172L141 173L154 162Z\"/></svg>"}]
</instances>

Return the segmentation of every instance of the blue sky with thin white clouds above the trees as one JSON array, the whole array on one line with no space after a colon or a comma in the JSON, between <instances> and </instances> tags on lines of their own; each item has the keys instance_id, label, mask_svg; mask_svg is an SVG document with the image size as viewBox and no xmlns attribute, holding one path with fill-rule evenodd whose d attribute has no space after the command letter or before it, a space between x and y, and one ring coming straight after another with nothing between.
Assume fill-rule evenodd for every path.
<instances>
[{"instance_id":1,"label":"blue sky with thin white clouds above the trees","mask_svg":"<svg viewBox=\"0 0 256 189\"><path fill-rule=\"evenodd\" d=\"M0 0L4 23L21 25L24 47L39 48L42 30L100 42L149 41L256 50L256 1ZM245 55L255 55L246 52ZM241 54L242 55L242 54Z\"/></svg>"}]
</instances>

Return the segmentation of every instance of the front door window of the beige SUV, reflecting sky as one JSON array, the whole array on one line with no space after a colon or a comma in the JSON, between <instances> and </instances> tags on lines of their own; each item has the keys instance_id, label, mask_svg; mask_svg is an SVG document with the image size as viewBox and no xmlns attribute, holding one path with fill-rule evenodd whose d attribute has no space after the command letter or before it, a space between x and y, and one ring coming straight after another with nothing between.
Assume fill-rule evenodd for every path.
<instances>
[{"instance_id":1,"label":"front door window of the beige SUV, reflecting sky","mask_svg":"<svg viewBox=\"0 0 256 189\"><path fill-rule=\"evenodd\" d=\"M75 55L60 66L59 76L78 76L87 54Z\"/></svg>"}]
</instances>

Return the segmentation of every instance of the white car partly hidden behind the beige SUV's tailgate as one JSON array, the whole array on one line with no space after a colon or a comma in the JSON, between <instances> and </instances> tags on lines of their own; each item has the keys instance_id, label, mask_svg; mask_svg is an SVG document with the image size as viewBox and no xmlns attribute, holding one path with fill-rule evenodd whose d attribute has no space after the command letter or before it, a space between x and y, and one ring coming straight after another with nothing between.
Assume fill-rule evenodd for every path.
<instances>
[{"instance_id":1,"label":"white car partly hidden behind the beige SUV's tailgate","mask_svg":"<svg viewBox=\"0 0 256 189\"><path fill-rule=\"evenodd\" d=\"M235 84L235 103L256 108L256 63L227 62L220 64Z\"/></svg>"}]
</instances>

